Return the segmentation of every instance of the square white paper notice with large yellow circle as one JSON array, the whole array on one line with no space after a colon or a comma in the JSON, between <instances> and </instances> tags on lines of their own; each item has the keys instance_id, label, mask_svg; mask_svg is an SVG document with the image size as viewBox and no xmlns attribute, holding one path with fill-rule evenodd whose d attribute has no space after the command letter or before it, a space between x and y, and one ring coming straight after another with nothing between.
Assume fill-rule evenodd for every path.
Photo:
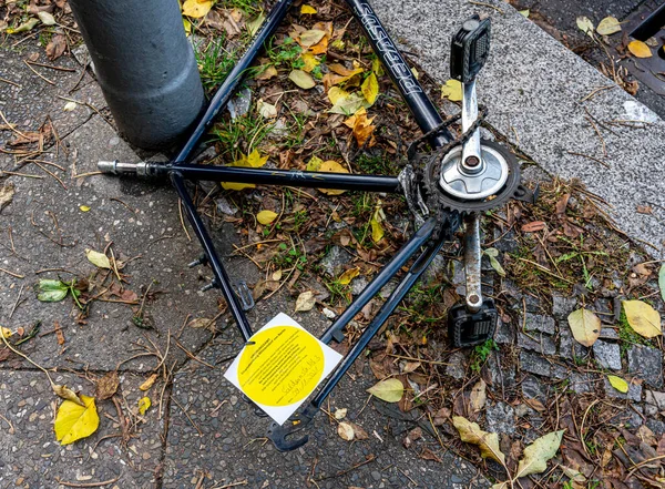
<instances>
[{"instance_id":1,"label":"square white paper notice with large yellow circle","mask_svg":"<svg viewBox=\"0 0 665 489\"><path fill-rule=\"evenodd\" d=\"M286 314L252 336L224 377L283 425L341 360Z\"/></svg>"}]
</instances>

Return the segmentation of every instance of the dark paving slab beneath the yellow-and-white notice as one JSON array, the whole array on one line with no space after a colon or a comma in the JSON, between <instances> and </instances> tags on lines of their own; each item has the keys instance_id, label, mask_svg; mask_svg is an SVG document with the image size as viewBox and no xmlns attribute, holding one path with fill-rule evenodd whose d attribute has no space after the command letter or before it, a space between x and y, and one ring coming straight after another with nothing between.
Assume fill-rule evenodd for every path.
<instances>
[{"instance_id":1,"label":"dark paving slab beneath the yellow-and-white notice","mask_svg":"<svg viewBox=\"0 0 665 489\"><path fill-rule=\"evenodd\" d=\"M285 295L262 302L256 320L265 323L278 312L291 314L293 307L293 298ZM293 317L315 333L329 324L316 312ZM264 438L268 419L257 418L223 378L227 364L217 365L239 350L238 335L229 328L215 342L218 343L200 355L214 369L191 363L175 377L173 397L177 403L171 404L164 489L190 488L201 475L205 475L205 487L246 480L248 487L257 489L299 489L308 487L308 478L329 489L406 488L413 487L413 482L427 488L461 488L470 483L474 488L489 487L475 468L441 450L436 438L427 432L409 449L402 447L403 438L416 425L382 416L368 403L366 389L376 379L364 361L351 369L354 379L345 377L335 389L326 410L347 408L347 417L360 425L369 438L344 441L337 435L337 424L319 412L305 447L289 454L277 452ZM442 462L419 458L424 448L437 454ZM368 458L372 461L354 469Z\"/></svg>"}]
</instances>

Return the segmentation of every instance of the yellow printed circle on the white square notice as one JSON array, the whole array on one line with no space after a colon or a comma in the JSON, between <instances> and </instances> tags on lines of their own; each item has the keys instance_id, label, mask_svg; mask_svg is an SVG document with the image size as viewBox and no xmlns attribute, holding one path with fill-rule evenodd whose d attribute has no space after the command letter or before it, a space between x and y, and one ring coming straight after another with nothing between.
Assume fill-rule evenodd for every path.
<instances>
[{"instance_id":1,"label":"yellow printed circle on the white square notice","mask_svg":"<svg viewBox=\"0 0 665 489\"><path fill-rule=\"evenodd\" d=\"M306 330L278 325L258 332L239 358L238 381L255 403L282 407L305 399L324 376L319 342Z\"/></svg>"}]
</instances>

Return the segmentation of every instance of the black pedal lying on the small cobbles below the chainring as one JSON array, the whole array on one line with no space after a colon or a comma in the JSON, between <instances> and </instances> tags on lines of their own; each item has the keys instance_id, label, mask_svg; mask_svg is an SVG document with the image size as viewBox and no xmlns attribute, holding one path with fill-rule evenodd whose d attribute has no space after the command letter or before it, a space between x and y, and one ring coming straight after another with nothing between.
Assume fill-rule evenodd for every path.
<instances>
[{"instance_id":1,"label":"black pedal lying on the small cobbles below the chainring","mask_svg":"<svg viewBox=\"0 0 665 489\"><path fill-rule=\"evenodd\" d=\"M448 313L448 336L456 348L480 345L494 337L499 313L492 299L485 299L478 313L469 313L466 304L452 306Z\"/></svg>"}]
</instances>

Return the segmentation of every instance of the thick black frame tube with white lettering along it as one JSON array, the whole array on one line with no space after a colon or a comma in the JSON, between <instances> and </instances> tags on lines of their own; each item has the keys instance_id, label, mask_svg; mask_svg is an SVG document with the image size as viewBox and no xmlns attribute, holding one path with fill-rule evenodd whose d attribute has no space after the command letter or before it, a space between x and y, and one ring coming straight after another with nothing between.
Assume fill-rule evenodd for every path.
<instances>
[{"instance_id":1,"label":"thick black frame tube with white lettering along it","mask_svg":"<svg viewBox=\"0 0 665 489\"><path fill-rule=\"evenodd\" d=\"M424 93L405 57L395 45L369 2L367 0L346 0L346 2L351 8L356 19L361 23L375 53L399 89L420 130L427 133L437 128L442 122L437 106ZM436 146L442 146L450 141L452 141L450 132L442 130L431 143Z\"/></svg>"}]
</instances>

